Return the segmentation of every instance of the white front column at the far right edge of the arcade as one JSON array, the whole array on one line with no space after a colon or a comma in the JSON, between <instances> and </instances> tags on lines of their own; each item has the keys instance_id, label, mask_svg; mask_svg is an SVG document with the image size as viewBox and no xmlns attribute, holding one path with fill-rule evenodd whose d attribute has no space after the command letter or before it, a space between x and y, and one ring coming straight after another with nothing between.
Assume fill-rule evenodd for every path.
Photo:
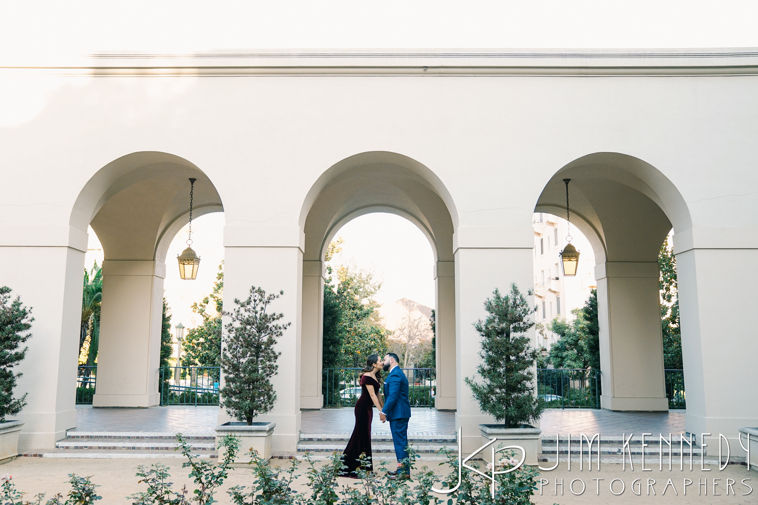
<instances>
[{"instance_id":1,"label":"white front column at the far right edge of the arcade","mask_svg":"<svg viewBox=\"0 0 758 505\"><path fill-rule=\"evenodd\" d=\"M758 294L743 288L735 298L733 292L734 286L758 278L758 241L755 233L741 235L744 229L721 231L686 230L674 240L687 394L684 426L698 442L700 433L723 433L731 454L736 445L736 454L743 456L737 430L758 426ZM753 243L745 244L746 239ZM708 248L697 248L698 242ZM709 446L708 454L716 454L717 447Z\"/></svg>"}]
</instances>

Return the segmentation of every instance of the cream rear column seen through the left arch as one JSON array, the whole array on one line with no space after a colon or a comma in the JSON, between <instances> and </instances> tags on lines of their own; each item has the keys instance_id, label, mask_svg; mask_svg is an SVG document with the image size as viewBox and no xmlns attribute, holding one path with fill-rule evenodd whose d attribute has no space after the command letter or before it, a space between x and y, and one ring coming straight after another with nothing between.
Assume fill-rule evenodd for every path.
<instances>
[{"instance_id":1,"label":"cream rear column seen through the left arch","mask_svg":"<svg viewBox=\"0 0 758 505\"><path fill-rule=\"evenodd\" d=\"M105 260L102 273L98 374L92 407L158 405L166 265L149 260Z\"/></svg>"}]
</instances>

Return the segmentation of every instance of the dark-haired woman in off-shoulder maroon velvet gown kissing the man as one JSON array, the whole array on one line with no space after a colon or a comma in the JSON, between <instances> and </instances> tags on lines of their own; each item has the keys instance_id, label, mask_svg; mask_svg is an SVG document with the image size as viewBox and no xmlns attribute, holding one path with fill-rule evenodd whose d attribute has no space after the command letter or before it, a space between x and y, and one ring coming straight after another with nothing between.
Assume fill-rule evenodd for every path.
<instances>
[{"instance_id":1,"label":"dark-haired woman in off-shoulder maroon velvet gown kissing the man","mask_svg":"<svg viewBox=\"0 0 758 505\"><path fill-rule=\"evenodd\" d=\"M371 354L366 360L366 367L361 370L361 397L356 402L356 427L352 429L352 436L343 453L343 465L347 466L340 472L343 477L358 477L356 469L361 466L362 454L371 460L371 419L374 418L374 405L380 411L384 407L379 392L383 365L378 354ZM364 469L372 472L374 465L370 463Z\"/></svg>"}]
</instances>

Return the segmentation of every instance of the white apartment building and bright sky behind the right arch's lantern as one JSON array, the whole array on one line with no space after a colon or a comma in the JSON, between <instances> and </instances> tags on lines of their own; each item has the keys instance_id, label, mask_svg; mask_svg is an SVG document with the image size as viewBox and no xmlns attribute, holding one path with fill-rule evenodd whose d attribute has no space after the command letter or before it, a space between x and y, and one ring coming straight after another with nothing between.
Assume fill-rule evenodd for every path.
<instances>
[{"instance_id":1,"label":"white apartment building and bright sky behind the right arch's lantern","mask_svg":"<svg viewBox=\"0 0 758 505\"><path fill-rule=\"evenodd\" d=\"M579 267L576 276L563 276L560 252L568 242L568 222L553 214L534 214L534 303L537 312L537 331L534 332L535 347L550 346L558 335L548 326L556 316L573 319L572 310L584 307L595 282L595 254L584 235L571 226L572 244L578 249Z\"/></svg>"}]
</instances>

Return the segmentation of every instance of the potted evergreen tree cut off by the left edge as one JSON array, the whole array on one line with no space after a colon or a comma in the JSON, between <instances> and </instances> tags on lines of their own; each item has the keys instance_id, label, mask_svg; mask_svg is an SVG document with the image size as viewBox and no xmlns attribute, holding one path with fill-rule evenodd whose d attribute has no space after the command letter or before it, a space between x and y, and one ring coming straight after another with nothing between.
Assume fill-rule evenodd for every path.
<instances>
[{"instance_id":1,"label":"potted evergreen tree cut off by the left edge","mask_svg":"<svg viewBox=\"0 0 758 505\"><path fill-rule=\"evenodd\" d=\"M21 374L14 373L14 367L27 356L27 349L20 345L29 340L34 318L31 308L21 304L21 298L11 300L11 288L0 288L0 463L18 456L18 435L23 422L8 419L27 404L27 394L13 397L16 379Z\"/></svg>"}]
</instances>

